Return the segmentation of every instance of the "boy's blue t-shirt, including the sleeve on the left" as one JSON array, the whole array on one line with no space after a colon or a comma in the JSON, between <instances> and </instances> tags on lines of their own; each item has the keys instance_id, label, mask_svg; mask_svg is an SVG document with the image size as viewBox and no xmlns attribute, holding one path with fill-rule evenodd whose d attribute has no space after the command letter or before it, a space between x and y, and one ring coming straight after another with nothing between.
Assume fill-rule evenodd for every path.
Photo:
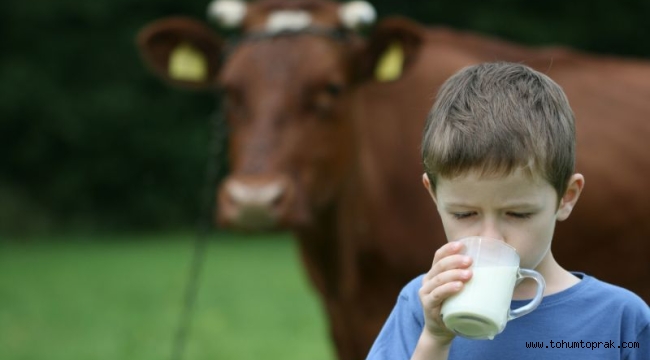
<instances>
[{"instance_id":1,"label":"boy's blue t-shirt, including the sleeve on the left","mask_svg":"<svg viewBox=\"0 0 650 360\"><path fill-rule=\"evenodd\" d=\"M457 336L449 359L650 360L650 307L634 293L594 277L545 296L535 311L509 321L494 340ZM650 280L649 280L650 283ZM401 291L368 360L410 359L424 326L422 276ZM512 301L518 308L528 301Z\"/></svg>"}]
</instances>

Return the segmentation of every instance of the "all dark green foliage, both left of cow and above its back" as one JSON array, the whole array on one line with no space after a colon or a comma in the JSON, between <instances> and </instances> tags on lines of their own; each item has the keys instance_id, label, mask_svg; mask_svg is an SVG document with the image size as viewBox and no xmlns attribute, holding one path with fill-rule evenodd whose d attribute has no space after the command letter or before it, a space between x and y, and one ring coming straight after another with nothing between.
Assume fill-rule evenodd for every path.
<instances>
[{"instance_id":1,"label":"all dark green foliage, both left of cow and above its back","mask_svg":"<svg viewBox=\"0 0 650 360\"><path fill-rule=\"evenodd\" d=\"M646 1L374 1L381 16L529 44L650 56ZM211 94L172 89L134 46L147 22L207 0L0 3L0 233L194 224Z\"/></svg>"}]
</instances>

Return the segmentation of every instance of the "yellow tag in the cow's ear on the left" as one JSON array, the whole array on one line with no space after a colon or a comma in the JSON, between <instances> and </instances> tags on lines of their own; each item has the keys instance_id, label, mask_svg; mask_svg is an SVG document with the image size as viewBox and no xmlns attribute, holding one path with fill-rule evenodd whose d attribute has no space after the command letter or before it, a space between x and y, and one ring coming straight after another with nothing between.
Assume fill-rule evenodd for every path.
<instances>
[{"instance_id":1,"label":"yellow tag in the cow's ear on the left","mask_svg":"<svg viewBox=\"0 0 650 360\"><path fill-rule=\"evenodd\" d=\"M205 56L190 44L178 45L169 56L169 77L181 81L205 81L208 66Z\"/></svg>"}]
</instances>

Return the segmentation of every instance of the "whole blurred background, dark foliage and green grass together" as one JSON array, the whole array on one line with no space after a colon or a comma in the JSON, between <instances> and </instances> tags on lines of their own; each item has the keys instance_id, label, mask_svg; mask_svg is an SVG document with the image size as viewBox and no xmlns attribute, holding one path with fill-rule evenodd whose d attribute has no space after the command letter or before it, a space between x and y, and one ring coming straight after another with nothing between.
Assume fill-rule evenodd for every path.
<instances>
[{"instance_id":1,"label":"whole blurred background, dark foliage and green grass together","mask_svg":"<svg viewBox=\"0 0 650 360\"><path fill-rule=\"evenodd\" d=\"M650 57L643 0L372 3L380 18ZM0 3L3 360L169 357L218 103L161 83L134 37L161 17L204 19L207 5ZM208 240L188 359L332 358L289 234ZM252 289L260 270L263 289ZM299 310L285 314L283 299Z\"/></svg>"}]
</instances>

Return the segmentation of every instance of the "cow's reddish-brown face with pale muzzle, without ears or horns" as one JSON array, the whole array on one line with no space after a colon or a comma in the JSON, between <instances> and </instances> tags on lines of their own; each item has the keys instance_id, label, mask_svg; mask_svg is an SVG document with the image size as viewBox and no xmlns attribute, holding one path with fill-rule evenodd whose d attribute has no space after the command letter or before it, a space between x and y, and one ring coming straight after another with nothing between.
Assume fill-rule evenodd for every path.
<instances>
[{"instance_id":1,"label":"cow's reddish-brown face with pale muzzle, without ears or horns","mask_svg":"<svg viewBox=\"0 0 650 360\"><path fill-rule=\"evenodd\" d=\"M240 45L220 76L231 175L219 218L299 226L329 205L354 156L348 44L287 35Z\"/></svg>"}]
</instances>

